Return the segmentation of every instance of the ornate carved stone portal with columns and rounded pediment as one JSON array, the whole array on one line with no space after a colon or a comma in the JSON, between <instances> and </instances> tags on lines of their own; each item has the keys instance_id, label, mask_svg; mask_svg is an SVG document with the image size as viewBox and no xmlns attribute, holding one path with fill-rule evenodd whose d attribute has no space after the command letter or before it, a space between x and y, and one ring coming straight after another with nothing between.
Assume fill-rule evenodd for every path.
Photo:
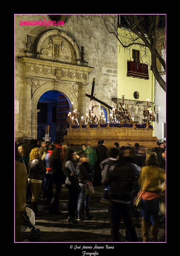
<instances>
[{"instance_id":1,"label":"ornate carved stone portal with columns and rounded pediment","mask_svg":"<svg viewBox=\"0 0 180 256\"><path fill-rule=\"evenodd\" d=\"M49 90L61 92L69 106L85 116L87 99L85 88L89 84L88 75L93 67L88 67L84 59L84 47L80 51L75 40L59 29L45 31L33 45L27 37L25 56L19 58L23 71L23 114L22 134L24 139L37 138L37 103L41 95Z\"/></svg>"}]
</instances>

